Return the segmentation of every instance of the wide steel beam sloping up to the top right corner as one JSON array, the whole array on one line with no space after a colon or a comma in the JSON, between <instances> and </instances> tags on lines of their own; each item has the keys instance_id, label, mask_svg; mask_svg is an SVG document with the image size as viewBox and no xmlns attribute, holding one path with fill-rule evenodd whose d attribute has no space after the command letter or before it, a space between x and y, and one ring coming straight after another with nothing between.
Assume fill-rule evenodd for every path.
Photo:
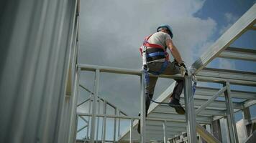
<instances>
[{"instance_id":1,"label":"wide steel beam sloping up to the top right corner","mask_svg":"<svg viewBox=\"0 0 256 143\"><path fill-rule=\"evenodd\" d=\"M240 19L237 20L219 39L212 44L209 49L197 59L191 66L190 72L197 74L210 61L218 56L221 51L224 51L233 41L239 38L247 28L255 23L256 19L256 4L254 4Z\"/></svg>"}]
</instances>

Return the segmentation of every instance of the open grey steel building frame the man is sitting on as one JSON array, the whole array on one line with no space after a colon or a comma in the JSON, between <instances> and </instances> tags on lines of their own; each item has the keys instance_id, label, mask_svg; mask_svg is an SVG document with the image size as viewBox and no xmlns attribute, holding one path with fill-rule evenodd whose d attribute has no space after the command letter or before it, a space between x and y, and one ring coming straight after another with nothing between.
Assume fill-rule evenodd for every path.
<instances>
[{"instance_id":1,"label":"open grey steel building frame the man is sitting on","mask_svg":"<svg viewBox=\"0 0 256 143\"><path fill-rule=\"evenodd\" d=\"M143 72L134 69L124 69L109 66L96 66L88 64L78 64L78 71L95 71L95 88L93 96L93 106L91 114L81 114L90 116L94 121L91 124L91 141L95 142L94 132L95 132L95 120L96 117L109 117L117 119L130 119L130 127L126 134L123 134L119 138L119 142L125 142L127 135L129 134L129 142L135 141L133 138L137 138L137 142L150 142L149 137L153 139L162 140L163 142L175 142L175 135L177 137L181 132L187 132L186 139L188 142L197 142L197 136L201 137L201 140L206 140L207 142L221 142L219 119L227 119L227 131L229 142L238 142L237 139L237 129L234 122L234 112L242 110L244 113L244 119L250 117L250 112L248 112L248 107L256 104L256 93L255 92L245 92L245 91L235 91L230 89L230 84L243 85L256 87L256 73L247 71L234 71L227 69L212 69L206 68L213 59L228 58L228 59L239 59L247 61L255 61L255 50L252 49L242 49L230 47L230 45L239 38L247 30L255 30L256 23L256 4L254 4L238 21L231 26L212 46L206 51L198 60L196 60L190 70L189 76L185 79L186 86L184 88L184 93L181 97L181 102L185 103L186 107L186 118L181 115L175 114L172 109L159 104L151 104L149 109L149 114L147 119L145 119L145 108L143 104L145 101L144 93L142 90L142 124L140 139L135 132L133 132L134 127L137 125L138 117L129 116L116 116L116 115L106 115L106 114L96 114L96 97L98 96L99 90L99 76L102 72L114 73L114 74L129 74L138 77L143 77ZM198 82L214 82L222 84L221 89L207 88L207 87L197 87L196 94L192 95L192 77L191 75L196 74ZM153 75L150 75L153 76ZM183 79L180 75L168 76L160 75L163 78L171 79ZM141 78L141 89L144 88L143 78ZM168 96L173 91L174 84L172 84L168 89L157 98L158 102L166 102ZM224 101L216 100L217 97L224 96ZM244 99L243 102L232 102L232 98ZM169 111L168 111L169 110ZM147 122L146 122L147 120ZM134 122L133 122L134 121ZM132 124L133 122L133 124ZM198 122L198 123L197 123ZM207 132L201 125L211 125L213 129L212 134ZM175 126L178 128L176 129ZM147 128L147 131L145 130ZM168 129L171 127L171 129ZM162 128L162 129L161 129ZM216 129L219 129L216 131ZM152 132L152 131L155 132ZM157 133L162 130L163 133ZM198 134L196 134L198 132ZM173 137L173 138L172 138ZM105 142L105 140L102 140Z\"/></svg>"}]
</instances>

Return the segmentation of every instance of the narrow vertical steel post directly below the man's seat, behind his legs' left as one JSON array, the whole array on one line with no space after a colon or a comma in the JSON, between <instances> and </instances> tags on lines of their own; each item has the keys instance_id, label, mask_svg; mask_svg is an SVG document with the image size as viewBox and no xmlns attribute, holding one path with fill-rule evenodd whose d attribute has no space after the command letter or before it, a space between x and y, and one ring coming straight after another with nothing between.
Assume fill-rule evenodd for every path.
<instances>
[{"instance_id":1,"label":"narrow vertical steel post directly below the man's seat, behind his legs' left","mask_svg":"<svg viewBox=\"0 0 256 143\"><path fill-rule=\"evenodd\" d=\"M145 143L146 138L145 138L145 71L142 70L142 76L141 76L141 109L140 109L140 142Z\"/></svg>"}]
</instances>

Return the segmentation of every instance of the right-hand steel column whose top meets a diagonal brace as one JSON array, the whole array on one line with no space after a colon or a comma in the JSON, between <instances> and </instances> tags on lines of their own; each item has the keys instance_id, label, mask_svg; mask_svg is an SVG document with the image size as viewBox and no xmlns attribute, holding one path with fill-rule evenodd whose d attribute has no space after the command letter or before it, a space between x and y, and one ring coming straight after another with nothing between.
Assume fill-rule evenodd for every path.
<instances>
[{"instance_id":1,"label":"right-hand steel column whose top meets a diagonal brace","mask_svg":"<svg viewBox=\"0 0 256 143\"><path fill-rule=\"evenodd\" d=\"M227 86L227 90L224 92L224 95L227 104L227 131L229 132L229 140L231 143L238 143L237 127L234 120L234 109L229 82L225 83L224 86Z\"/></svg>"}]
</instances>

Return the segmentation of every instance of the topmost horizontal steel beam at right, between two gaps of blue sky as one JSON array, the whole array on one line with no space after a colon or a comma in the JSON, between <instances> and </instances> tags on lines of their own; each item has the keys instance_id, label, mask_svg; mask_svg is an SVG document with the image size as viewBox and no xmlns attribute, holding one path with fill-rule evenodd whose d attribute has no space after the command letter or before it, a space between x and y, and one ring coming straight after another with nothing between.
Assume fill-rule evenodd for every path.
<instances>
[{"instance_id":1,"label":"topmost horizontal steel beam at right, between two gaps of blue sky","mask_svg":"<svg viewBox=\"0 0 256 143\"><path fill-rule=\"evenodd\" d=\"M228 47L219 54L220 58L256 61L256 50Z\"/></svg>"}]
</instances>

